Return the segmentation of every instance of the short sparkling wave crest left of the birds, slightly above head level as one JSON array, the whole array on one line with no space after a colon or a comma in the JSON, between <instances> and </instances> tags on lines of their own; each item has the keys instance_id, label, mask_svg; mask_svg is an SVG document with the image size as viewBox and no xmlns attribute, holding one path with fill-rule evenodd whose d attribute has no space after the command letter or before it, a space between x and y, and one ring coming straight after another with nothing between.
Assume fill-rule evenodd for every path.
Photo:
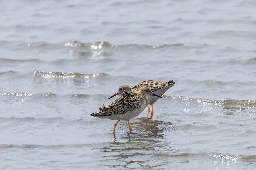
<instances>
[{"instance_id":1,"label":"short sparkling wave crest left of the birds, slightly above head level","mask_svg":"<svg viewBox=\"0 0 256 170\"><path fill-rule=\"evenodd\" d=\"M94 78L97 76L106 76L105 73L95 73L95 74L81 74L77 72L42 72L34 71L34 77L43 77L43 78Z\"/></svg>"}]
</instances>

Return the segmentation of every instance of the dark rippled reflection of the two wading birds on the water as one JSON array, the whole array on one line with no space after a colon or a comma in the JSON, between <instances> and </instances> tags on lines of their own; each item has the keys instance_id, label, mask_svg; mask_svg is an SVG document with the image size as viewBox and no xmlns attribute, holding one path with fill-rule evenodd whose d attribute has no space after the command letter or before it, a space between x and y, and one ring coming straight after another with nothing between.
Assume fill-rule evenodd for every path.
<instances>
[{"instance_id":1,"label":"dark rippled reflection of the two wading birds on the water","mask_svg":"<svg viewBox=\"0 0 256 170\"><path fill-rule=\"evenodd\" d=\"M135 127L132 133L117 133L113 142L101 149L104 156L99 159L108 160L109 168L152 168L148 164L150 155L154 153L170 153L171 142L165 139L166 133L177 130L171 122L137 118L131 123ZM105 162L103 161L103 162ZM162 162L163 163L163 162ZM102 164L101 164L102 165Z\"/></svg>"}]
</instances>

